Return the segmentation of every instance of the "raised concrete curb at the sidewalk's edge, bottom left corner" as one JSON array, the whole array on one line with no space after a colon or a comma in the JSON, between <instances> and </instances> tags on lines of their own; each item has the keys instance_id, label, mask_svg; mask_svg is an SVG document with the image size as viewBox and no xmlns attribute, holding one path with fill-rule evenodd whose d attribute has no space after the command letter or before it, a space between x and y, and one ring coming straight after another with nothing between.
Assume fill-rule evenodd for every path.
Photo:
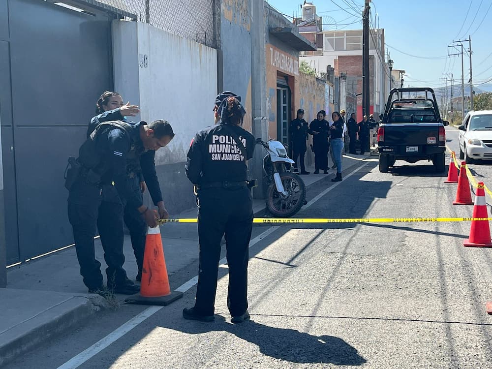
<instances>
[{"instance_id":1,"label":"raised concrete curb at the sidewalk's edge, bottom left corner","mask_svg":"<svg viewBox=\"0 0 492 369\"><path fill-rule=\"evenodd\" d=\"M107 306L106 300L101 296L73 296L10 328L0 334L0 367L50 338L80 325ZM7 335L9 337L2 338Z\"/></svg>"}]
</instances>

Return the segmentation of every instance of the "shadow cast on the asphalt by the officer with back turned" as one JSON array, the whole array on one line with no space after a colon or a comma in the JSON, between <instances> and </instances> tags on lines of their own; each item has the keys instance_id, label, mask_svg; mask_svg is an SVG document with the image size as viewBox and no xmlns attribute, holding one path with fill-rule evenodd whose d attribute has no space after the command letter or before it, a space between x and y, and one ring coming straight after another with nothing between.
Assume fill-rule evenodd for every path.
<instances>
[{"instance_id":1,"label":"shadow cast on the asphalt by the officer with back turned","mask_svg":"<svg viewBox=\"0 0 492 369\"><path fill-rule=\"evenodd\" d=\"M229 332L257 345L262 354L291 363L330 363L347 366L366 363L366 359L360 356L353 346L334 336L312 336L294 329L270 327L253 320L234 325L226 322L220 315L215 315L214 323L183 320L173 323L164 328L192 335L210 331Z\"/></svg>"}]
</instances>

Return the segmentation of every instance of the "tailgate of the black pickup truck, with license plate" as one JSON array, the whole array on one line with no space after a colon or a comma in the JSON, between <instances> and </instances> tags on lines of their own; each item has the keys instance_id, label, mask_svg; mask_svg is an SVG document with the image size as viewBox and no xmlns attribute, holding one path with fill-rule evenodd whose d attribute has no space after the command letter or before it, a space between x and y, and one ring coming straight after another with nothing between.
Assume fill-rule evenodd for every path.
<instances>
[{"instance_id":1,"label":"tailgate of the black pickup truck, with license plate","mask_svg":"<svg viewBox=\"0 0 492 369\"><path fill-rule=\"evenodd\" d=\"M393 123L384 127L386 145L436 145L439 126L436 123Z\"/></svg>"}]
</instances>

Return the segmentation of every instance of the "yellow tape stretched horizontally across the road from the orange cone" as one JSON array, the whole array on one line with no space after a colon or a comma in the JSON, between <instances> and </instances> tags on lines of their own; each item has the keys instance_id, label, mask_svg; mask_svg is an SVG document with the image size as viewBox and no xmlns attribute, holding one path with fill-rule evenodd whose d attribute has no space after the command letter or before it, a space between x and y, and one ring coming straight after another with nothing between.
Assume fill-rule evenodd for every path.
<instances>
[{"instance_id":1,"label":"yellow tape stretched horizontally across the road from the orange cone","mask_svg":"<svg viewBox=\"0 0 492 369\"><path fill-rule=\"evenodd\" d=\"M253 218L253 223L411 223L411 222L465 222L492 218ZM159 219L158 223L196 223L196 218Z\"/></svg>"}]
</instances>

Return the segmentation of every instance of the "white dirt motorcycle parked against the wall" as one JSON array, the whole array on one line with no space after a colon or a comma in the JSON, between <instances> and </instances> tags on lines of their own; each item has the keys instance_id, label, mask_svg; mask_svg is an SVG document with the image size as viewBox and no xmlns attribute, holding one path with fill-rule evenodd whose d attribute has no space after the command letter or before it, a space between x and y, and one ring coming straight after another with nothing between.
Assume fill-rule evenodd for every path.
<instances>
[{"instance_id":1,"label":"white dirt motorcycle parked against the wall","mask_svg":"<svg viewBox=\"0 0 492 369\"><path fill-rule=\"evenodd\" d=\"M266 175L266 205L268 211L278 217L296 214L307 204L306 184L300 176L292 173L294 160L287 156L281 142L256 140L267 151L263 158L263 171Z\"/></svg>"}]
</instances>

